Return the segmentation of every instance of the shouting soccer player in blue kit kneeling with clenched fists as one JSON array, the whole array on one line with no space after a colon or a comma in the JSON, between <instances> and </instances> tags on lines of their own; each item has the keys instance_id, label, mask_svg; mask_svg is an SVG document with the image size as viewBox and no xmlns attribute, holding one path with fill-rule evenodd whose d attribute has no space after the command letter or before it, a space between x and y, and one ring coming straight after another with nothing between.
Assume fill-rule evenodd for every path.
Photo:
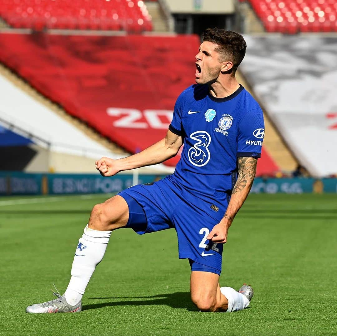
<instances>
[{"instance_id":1,"label":"shouting soccer player in blue kit kneeling with clenched fists","mask_svg":"<svg viewBox=\"0 0 337 336\"><path fill-rule=\"evenodd\" d=\"M96 168L103 176L157 164L184 144L174 174L128 188L93 207L74 256L67 290L57 299L27 307L31 313L78 312L87 284L104 256L111 232L138 234L175 228L179 258L191 266L191 299L202 311L246 308L253 290L219 286L222 249L228 229L245 201L264 137L263 113L237 82L235 72L246 43L240 34L207 29L196 58L195 81L174 107L164 139L142 152Z\"/></svg>"}]
</instances>

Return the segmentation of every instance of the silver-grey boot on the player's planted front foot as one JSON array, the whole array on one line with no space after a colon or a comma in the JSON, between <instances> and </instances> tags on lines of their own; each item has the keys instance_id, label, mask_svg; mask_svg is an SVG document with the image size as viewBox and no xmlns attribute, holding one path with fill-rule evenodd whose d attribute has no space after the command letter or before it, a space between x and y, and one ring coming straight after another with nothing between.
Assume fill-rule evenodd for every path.
<instances>
[{"instance_id":1,"label":"silver-grey boot on the player's planted front foot","mask_svg":"<svg viewBox=\"0 0 337 336\"><path fill-rule=\"evenodd\" d=\"M53 295L57 296L57 299L28 306L26 313L75 313L82 310L82 301L71 306L64 295L61 296L60 293L53 293Z\"/></svg>"}]
</instances>

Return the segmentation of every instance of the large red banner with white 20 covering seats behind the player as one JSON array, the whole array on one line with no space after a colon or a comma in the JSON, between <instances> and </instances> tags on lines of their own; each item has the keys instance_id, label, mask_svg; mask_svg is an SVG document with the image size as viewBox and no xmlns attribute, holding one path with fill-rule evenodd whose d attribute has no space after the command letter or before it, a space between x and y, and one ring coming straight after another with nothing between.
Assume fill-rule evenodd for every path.
<instances>
[{"instance_id":1,"label":"large red banner with white 20 covering seats behind the player","mask_svg":"<svg viewBox=\"0 0 337 336\"><path fill-rule=\"evenodd\" d=\"M194 82L199 44L195 35L0 34L0 61L69 114L135 153L164 137L176 98ZM263 149L258 175L278 169Z\"/></svg>"}]
</instances>

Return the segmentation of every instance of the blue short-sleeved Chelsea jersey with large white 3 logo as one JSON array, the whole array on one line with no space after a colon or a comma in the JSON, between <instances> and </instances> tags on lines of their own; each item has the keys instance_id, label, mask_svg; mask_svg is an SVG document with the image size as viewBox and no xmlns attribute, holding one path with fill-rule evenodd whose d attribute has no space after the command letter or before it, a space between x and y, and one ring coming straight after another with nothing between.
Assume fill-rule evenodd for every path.
<instances>
[{"instance_id":1,"label":"blue short-sleeved Chelsea jersey with large white 3 logo","mask_svg":"<svg viewBox=\"0 0 337 336\"><path fill-rule=\"evenodd\" d=\"M237 158L261 156L263 113L241 85L225 98L211 96L208 85L190 86L176 101L169 129L184 143L170 178L203 199L228 201Z\"/></svg>"}]
</instances>

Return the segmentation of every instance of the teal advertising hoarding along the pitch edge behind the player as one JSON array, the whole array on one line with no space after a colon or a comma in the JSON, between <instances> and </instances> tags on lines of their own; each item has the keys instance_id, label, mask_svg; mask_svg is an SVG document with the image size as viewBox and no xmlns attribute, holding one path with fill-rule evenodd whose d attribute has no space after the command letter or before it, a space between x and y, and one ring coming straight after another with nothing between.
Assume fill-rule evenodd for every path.
<instances>
[{"instance_id":1,"label":"teal advertising hoarding along the pitch edge behind the player","mask_svg":"<svg viewBox=\"0 0 337 336\"><path fill-rule=\"evenodd\" d=\"M165 175L139 175L149 183ZM0 173L0 195L71 195L118 193L132 186L132 175ZM337 193L337 178L255 178L254 194Z\"/></svg>"}]
</instances>

